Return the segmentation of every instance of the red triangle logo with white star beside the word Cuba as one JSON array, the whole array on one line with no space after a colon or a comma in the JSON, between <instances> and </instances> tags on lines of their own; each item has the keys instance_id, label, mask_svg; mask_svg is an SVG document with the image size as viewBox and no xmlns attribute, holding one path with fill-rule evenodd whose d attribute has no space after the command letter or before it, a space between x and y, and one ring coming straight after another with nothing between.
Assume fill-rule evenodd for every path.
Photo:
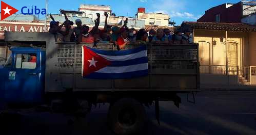
<instances>
[{"instance_id":1,"label":"red triangle logo with white star beside the word Cuba","mask_svg":"<svg viewBox=\"0 0 256 135\"><path fill-rule=\"evenodd\" d=\"M18 12L17 9L1 1L1 20L4 20L16 12Z\"/></svg>"}]
</instances>

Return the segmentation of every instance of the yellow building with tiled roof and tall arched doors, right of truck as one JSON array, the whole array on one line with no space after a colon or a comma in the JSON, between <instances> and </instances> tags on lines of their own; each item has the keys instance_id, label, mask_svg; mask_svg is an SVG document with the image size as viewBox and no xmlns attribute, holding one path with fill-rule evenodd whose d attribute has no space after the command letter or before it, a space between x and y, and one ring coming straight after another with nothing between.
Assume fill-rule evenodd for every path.
<instances>
[{"instance_id":1,"label":"yellow building with tiled roof and tall arched doors, right of truck","mask_svg":"<svg viewBox=\"0 0 256 135\"><path fill-rule=\"evenodd\" d=\"M183 22L199 44L201 86L256 85L256 26L243 23ZM211 88L212 88L211 87Z\"/></svg>"}]
</instances>

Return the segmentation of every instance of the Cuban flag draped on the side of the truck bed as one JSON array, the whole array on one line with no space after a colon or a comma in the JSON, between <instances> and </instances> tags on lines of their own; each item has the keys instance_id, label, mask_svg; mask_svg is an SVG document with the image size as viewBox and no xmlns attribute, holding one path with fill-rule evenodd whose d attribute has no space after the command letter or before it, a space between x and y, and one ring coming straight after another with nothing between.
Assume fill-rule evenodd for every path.
<instances>
[{"instance_id":1,"label":"Cuban flag draped on the side of the truck bed","mask_svg":"<svg viewBox=\"0 0 256 135\"><path fill-rule=\"evenodd\" d=\"M146 46L109 51L82 46L82 77L119 79L148 75Z\"/></svg>"}]
</instances>

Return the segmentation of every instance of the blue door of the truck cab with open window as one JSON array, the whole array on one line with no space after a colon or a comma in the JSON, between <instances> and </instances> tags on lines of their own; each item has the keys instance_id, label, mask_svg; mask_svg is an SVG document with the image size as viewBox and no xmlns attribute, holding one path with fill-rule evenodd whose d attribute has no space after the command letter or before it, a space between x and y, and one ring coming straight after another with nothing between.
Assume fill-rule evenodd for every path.
<instances>
[{"instance_id":1,"label":"blue door of the truck cab with open window","mask_svg":"<svg viewBox=\"0 0 256 135\"><path fill-rule=\"evenodd\" d=\"M5 97L11 102L38 102L41 100L40 55L38 51L13 52L13 66L6 79Z\"/></svg>"}]
</instances>

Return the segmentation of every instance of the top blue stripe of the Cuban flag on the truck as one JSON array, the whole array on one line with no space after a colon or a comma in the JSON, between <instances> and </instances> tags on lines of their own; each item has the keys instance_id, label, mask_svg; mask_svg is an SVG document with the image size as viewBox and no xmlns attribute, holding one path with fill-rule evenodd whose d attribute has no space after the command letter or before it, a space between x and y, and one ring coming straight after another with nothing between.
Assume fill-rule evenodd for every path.
<instances>
[{"instance_id":1,"label":"top blue stripe of the Cuban flag on the truck","mask_svg":"<svg viewBox=\"0 0 256 135\"><path fill-rule=\"evenodd\" d=\"M101 55L106 55L106 56L125 56L125 55L130 55L132 53L136 53L136 52L140 52L142 50L146 50L146 46L142 45L140 47L134 48L134 49L128 49L128 50L99 50L99 49L94 49L94 48L90 48L92 51L94 51L95 53L99 53Z\"/></svg>"}]
</instances>

